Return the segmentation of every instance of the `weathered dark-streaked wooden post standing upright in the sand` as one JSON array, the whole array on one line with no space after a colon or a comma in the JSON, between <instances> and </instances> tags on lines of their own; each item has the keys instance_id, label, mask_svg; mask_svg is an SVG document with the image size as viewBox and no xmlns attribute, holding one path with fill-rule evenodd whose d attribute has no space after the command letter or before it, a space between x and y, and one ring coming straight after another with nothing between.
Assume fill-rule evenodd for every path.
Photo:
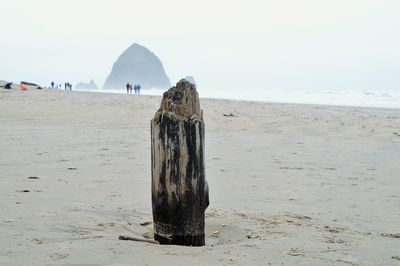
<instances>
[{"instance_id":1,"label":"weathered dark-streaked wooden post standing upright in the sand","mask_svg":"<svg viewBox=\"0 0 400 266\"><path fill-rule=\"evenodd\" d=\"M195 85L166 91L151 120L154 239L203 246L209 204L204 164L204 121Z\"/></svg>"}]
</instances>

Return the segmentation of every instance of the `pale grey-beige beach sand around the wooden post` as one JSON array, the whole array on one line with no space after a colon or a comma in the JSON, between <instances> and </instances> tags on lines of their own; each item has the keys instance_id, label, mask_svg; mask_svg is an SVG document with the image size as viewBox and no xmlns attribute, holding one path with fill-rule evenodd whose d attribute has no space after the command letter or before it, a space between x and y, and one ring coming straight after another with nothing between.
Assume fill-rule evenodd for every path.
<instances>
[{"instance_id":1,"label":"pale grey-beige beach sand around the wooden post","mask_svg":"<svg viewBox=\"0 0 400 266\"><path fill-rule=\"evenodd\" d=\"M202 99L206 246L118 240L160 100L0 90L1 265L400 265L400 109Z\"/></svg>"}]
</instances>

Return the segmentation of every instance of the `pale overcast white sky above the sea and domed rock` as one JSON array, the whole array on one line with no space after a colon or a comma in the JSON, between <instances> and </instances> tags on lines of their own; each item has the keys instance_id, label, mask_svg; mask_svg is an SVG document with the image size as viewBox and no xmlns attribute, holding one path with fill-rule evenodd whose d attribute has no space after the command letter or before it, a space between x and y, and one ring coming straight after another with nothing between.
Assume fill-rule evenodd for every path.
<instances>
[{"instance_id":1,"label":"pale overcast white sky above the sea and domed rock","mask_svg":"<svg viewBox=\"0 0 400 266\"><path fill-rule=\"evenodd\" d=\"M400 90L398 0L1 0L0 79L100 87L137 42L209 89Z\"/></svg>"}]
</instances>

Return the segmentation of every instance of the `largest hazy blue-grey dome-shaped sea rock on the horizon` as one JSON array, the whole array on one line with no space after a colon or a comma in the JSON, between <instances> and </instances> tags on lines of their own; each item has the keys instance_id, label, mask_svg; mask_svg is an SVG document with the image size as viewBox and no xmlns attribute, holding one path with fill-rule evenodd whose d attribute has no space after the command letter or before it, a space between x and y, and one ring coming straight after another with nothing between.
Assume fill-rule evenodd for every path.
<instances>
[{"instance_id":1,"label":"largest hazy blue-grey dome-shaped sea rock on the horizon","mask_svg":"<svg viewBox=\"0 0 400 266\"><path fill-rule=\"evenodd\" d=\"M103 89L125 89L128 82L139 83L143 89L168 89L171 86L160 59L137 43L119 56Z\"/></svg>"}]
</instances>

